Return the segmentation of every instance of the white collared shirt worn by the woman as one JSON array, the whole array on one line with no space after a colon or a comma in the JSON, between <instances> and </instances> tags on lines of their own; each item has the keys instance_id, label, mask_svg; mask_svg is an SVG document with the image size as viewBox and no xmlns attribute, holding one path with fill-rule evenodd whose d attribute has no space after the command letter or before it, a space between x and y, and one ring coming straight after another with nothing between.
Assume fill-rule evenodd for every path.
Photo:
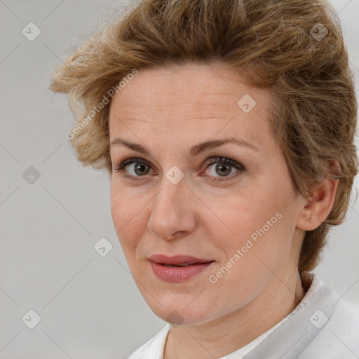
<instances>
[{"instance_id":1,"label":"white collared shirt worn by the woman","mask_svg":"<svg viewBox=\"0 0 359 359\"><path fill-rule=\"evenodd\" d=\"M309 273L311 286L279 323L219 359L358 359L359 305L339 297ZM128 359L163 359L170 323Z\"/></svg>"}]
</instances>

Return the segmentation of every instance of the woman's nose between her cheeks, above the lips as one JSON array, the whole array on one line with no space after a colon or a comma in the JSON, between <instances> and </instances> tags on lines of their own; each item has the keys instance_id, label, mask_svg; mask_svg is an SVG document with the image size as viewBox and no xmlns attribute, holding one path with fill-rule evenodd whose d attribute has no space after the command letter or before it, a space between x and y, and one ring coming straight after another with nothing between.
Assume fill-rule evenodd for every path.
<instances>
[{"instance_id":1,"label":"woman's nose between her cheeks, above the lips","mask_svg":"<svg viewBox=\"0 0 359 359\"><path fill-rule=\"evenodd\" d=\"M187 187L185 178L172 184L163 176L160 188L147 223L149 231L165 241L191 233L196 226L196 212L194 194Z\"/></svg>"}]
</instances>

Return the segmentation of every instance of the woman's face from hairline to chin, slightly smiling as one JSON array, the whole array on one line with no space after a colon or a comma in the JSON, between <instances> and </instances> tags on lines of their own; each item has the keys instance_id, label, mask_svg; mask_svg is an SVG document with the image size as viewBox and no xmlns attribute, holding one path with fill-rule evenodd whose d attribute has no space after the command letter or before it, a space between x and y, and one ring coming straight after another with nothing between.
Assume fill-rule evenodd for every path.
<instances>
[{"instance_id":1,"label":"woman's face from hairline to chin, slightly smiling","mask_svg":"<svg viewBox=\"0 0 359 359\"><path fill-rule=\"evenodd\" d=\"M270 102L229 70L194 64L140 69L111 102L112 165L135 158L111 175L114 226L163 320L206 323L250 302L265 309L273 298L264 293L283 292L297 272L306 200L269 129ZM197 259L207 263L158 264Z\"/></svg>"}]
</instances>

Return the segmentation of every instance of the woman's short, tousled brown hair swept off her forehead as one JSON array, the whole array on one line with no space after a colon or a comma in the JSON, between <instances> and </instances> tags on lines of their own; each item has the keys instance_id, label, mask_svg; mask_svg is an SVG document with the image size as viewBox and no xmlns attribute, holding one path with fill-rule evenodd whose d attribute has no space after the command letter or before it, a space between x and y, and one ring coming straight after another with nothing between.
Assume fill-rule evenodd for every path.
<instances>
[{"instance_id":1,"label":"woman's short, tousled brown hair swept off her forehead","mask_svg":"<svg viewBox=\"0 0 359 359\"><path fill-rule=\"evenodd\" d=\"M241 69L250 86L271 91L270 125L294 189L307 196L327 177L339 179L330 215L304 236L299 272L310 271L320 260L330 226L344 222L358 173L353 73L334 8L324 0L135 4L88 36L53 72L50 89L68 93L76 120L86 123L71 138L79 161L111 173L111 102L88 118L109 89L133 69L184 62ZM330 168L331 161L338 161L339 172Z\"/></svg>"}]
</instances>

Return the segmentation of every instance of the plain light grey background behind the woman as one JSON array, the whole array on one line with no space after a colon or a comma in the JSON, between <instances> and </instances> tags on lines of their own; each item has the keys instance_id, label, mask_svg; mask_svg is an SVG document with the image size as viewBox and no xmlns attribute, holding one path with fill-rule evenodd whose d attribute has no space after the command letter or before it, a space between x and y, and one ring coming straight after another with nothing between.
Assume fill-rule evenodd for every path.
<instances>
[{"instance_id":1,"label":"plain light grey background behind the woman","mask_svg":"<svg viewBox=\"0 0 359 359\"><path fill-rule=\"evenodd\" d=\"M52 69L115 4L0 0L0 359L126 358L165 324L128 271L111 220L108 175L77 163L65 138L73 123L67 97L47 90ZM358 88L359 0L332 4ZM22 34L29 22L41 29L34 41ZM32 184L22 177L30 166L40 174ZM359 302L354 194L348 221L332 231L316 272ZM102 237L113 245L105 257L93 249ZM30 309L41 317L34 329L22 321Z\"/></svg>"}]
</instances>

